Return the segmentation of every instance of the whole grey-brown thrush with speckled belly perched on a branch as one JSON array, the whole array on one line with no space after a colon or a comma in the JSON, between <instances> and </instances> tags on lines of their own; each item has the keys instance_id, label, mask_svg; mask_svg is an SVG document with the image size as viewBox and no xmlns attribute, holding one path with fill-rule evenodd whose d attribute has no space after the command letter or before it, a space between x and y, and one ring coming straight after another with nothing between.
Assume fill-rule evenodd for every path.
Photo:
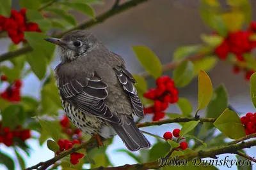
<instances>
[{"instance_id":1,"label":"whole grey-brown thrush with speckled belly perched on a branch","mask_svg":"<svg viewBox=\"0 0 256 170\"><path fill-rule=\"evenodd\" d=\"M134 122L135 116L144 118L143 104L124 59L86 30L45 40L58 45L61 62L54 78L70 122L98 146L117 134L131 152L150 148Z\"/></svg>"}]
</instances>

